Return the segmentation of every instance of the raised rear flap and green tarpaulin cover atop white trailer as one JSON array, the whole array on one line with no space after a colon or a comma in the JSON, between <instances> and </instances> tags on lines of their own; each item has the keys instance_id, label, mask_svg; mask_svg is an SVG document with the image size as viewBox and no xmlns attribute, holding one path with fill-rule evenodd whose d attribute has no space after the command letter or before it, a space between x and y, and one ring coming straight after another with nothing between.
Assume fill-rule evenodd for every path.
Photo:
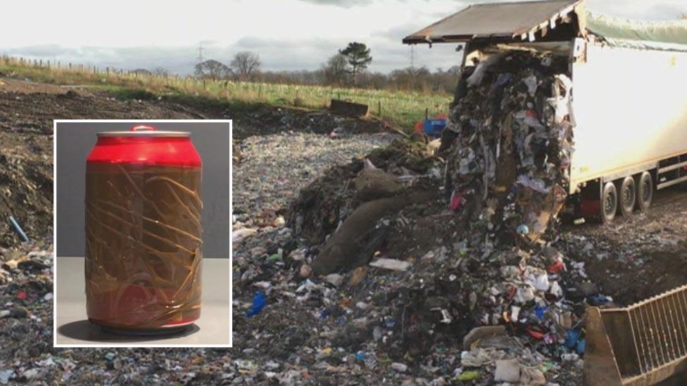
<instances>
[{"instance_id":1,"label":"raised rear flap and green tarpaulin cover atop white trailer","mask_svg":"<svg viewBox=\"0 0 687 386\"><path fill-rule=\"evenodd\" d=\"M410 34L403 43L535 41L569 22L576 22L574 30L569 29L558 38L584 37L591 32L612 46L687 50L687 20L612 18L586 11L584 0L476 4Z\"/></svg>"}]
</instances>

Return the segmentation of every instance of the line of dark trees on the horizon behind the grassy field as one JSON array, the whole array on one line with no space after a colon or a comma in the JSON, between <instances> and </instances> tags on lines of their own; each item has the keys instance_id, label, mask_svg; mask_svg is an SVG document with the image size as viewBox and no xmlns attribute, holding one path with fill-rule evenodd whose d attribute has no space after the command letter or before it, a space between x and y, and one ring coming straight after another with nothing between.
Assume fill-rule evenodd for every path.
<instances>
[{"instance_id":1,"label":"line of dark trees on the horizon behind the grassy field","mask_svg":"<svg viewBox=\"0 0 687 386\"><path fill-rule=\"evenodd\" d=\"M367 71L370 63L370 49L363 43L353 41L328 58L317 70L262 70L262 61L257 53L241 51L228 65L213 59L196 64L194 75L213 80L450 93L455 88L459 72L458 66L448 70L437 68L434 71L422 66L405 67L384 74ZM161 69L153 70L156 73L160 71Z\"/></svg>"}]
</instances>

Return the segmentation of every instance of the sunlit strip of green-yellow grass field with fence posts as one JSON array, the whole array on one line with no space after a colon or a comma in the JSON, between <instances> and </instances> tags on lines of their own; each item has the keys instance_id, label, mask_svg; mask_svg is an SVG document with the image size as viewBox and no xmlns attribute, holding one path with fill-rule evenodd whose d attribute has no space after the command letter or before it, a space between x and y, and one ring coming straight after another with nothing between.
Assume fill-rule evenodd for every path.
<instances>
[{"instance_id":1,"label":"sunlit strip of green-yellow grass field with fence posts","mask_svg":"<svg viewBox=\"0 0 687 386\"><path fill-rule=\"evenodd\" d=\"M0 72L34 82L52 84L87 84L127 96L153 95L199 96L221 103L240 105L275 105L308 109L327 108L332 98L365 103L370 112L395 127L412 129L414 122L445 114L451 97L446 93L350 89L329 86L296 86L256 82L212 81L193 77L141 75L119 70L83 65L52 65L18 58L0 58ZM137 93L139 91L139 93Z\"/></svg>"}]
</instances>

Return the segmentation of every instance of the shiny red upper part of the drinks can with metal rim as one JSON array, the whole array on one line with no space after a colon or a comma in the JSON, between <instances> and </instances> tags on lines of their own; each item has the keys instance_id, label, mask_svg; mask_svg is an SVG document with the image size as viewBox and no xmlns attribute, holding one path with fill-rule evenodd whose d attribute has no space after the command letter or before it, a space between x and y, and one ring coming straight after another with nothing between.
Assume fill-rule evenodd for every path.
<instances>
[{"instance_id":1,"label":"shiny red upper part of the drinks can with metal rim","mask_svg":"<svg viewBox=\"0 0 687 386\"><path fill-rule=\"evenodd\" d=\"M187 131L158 131L148 125L99 132L87 162L201 167L190 135Z\"/></svg>"}]
</instances>

